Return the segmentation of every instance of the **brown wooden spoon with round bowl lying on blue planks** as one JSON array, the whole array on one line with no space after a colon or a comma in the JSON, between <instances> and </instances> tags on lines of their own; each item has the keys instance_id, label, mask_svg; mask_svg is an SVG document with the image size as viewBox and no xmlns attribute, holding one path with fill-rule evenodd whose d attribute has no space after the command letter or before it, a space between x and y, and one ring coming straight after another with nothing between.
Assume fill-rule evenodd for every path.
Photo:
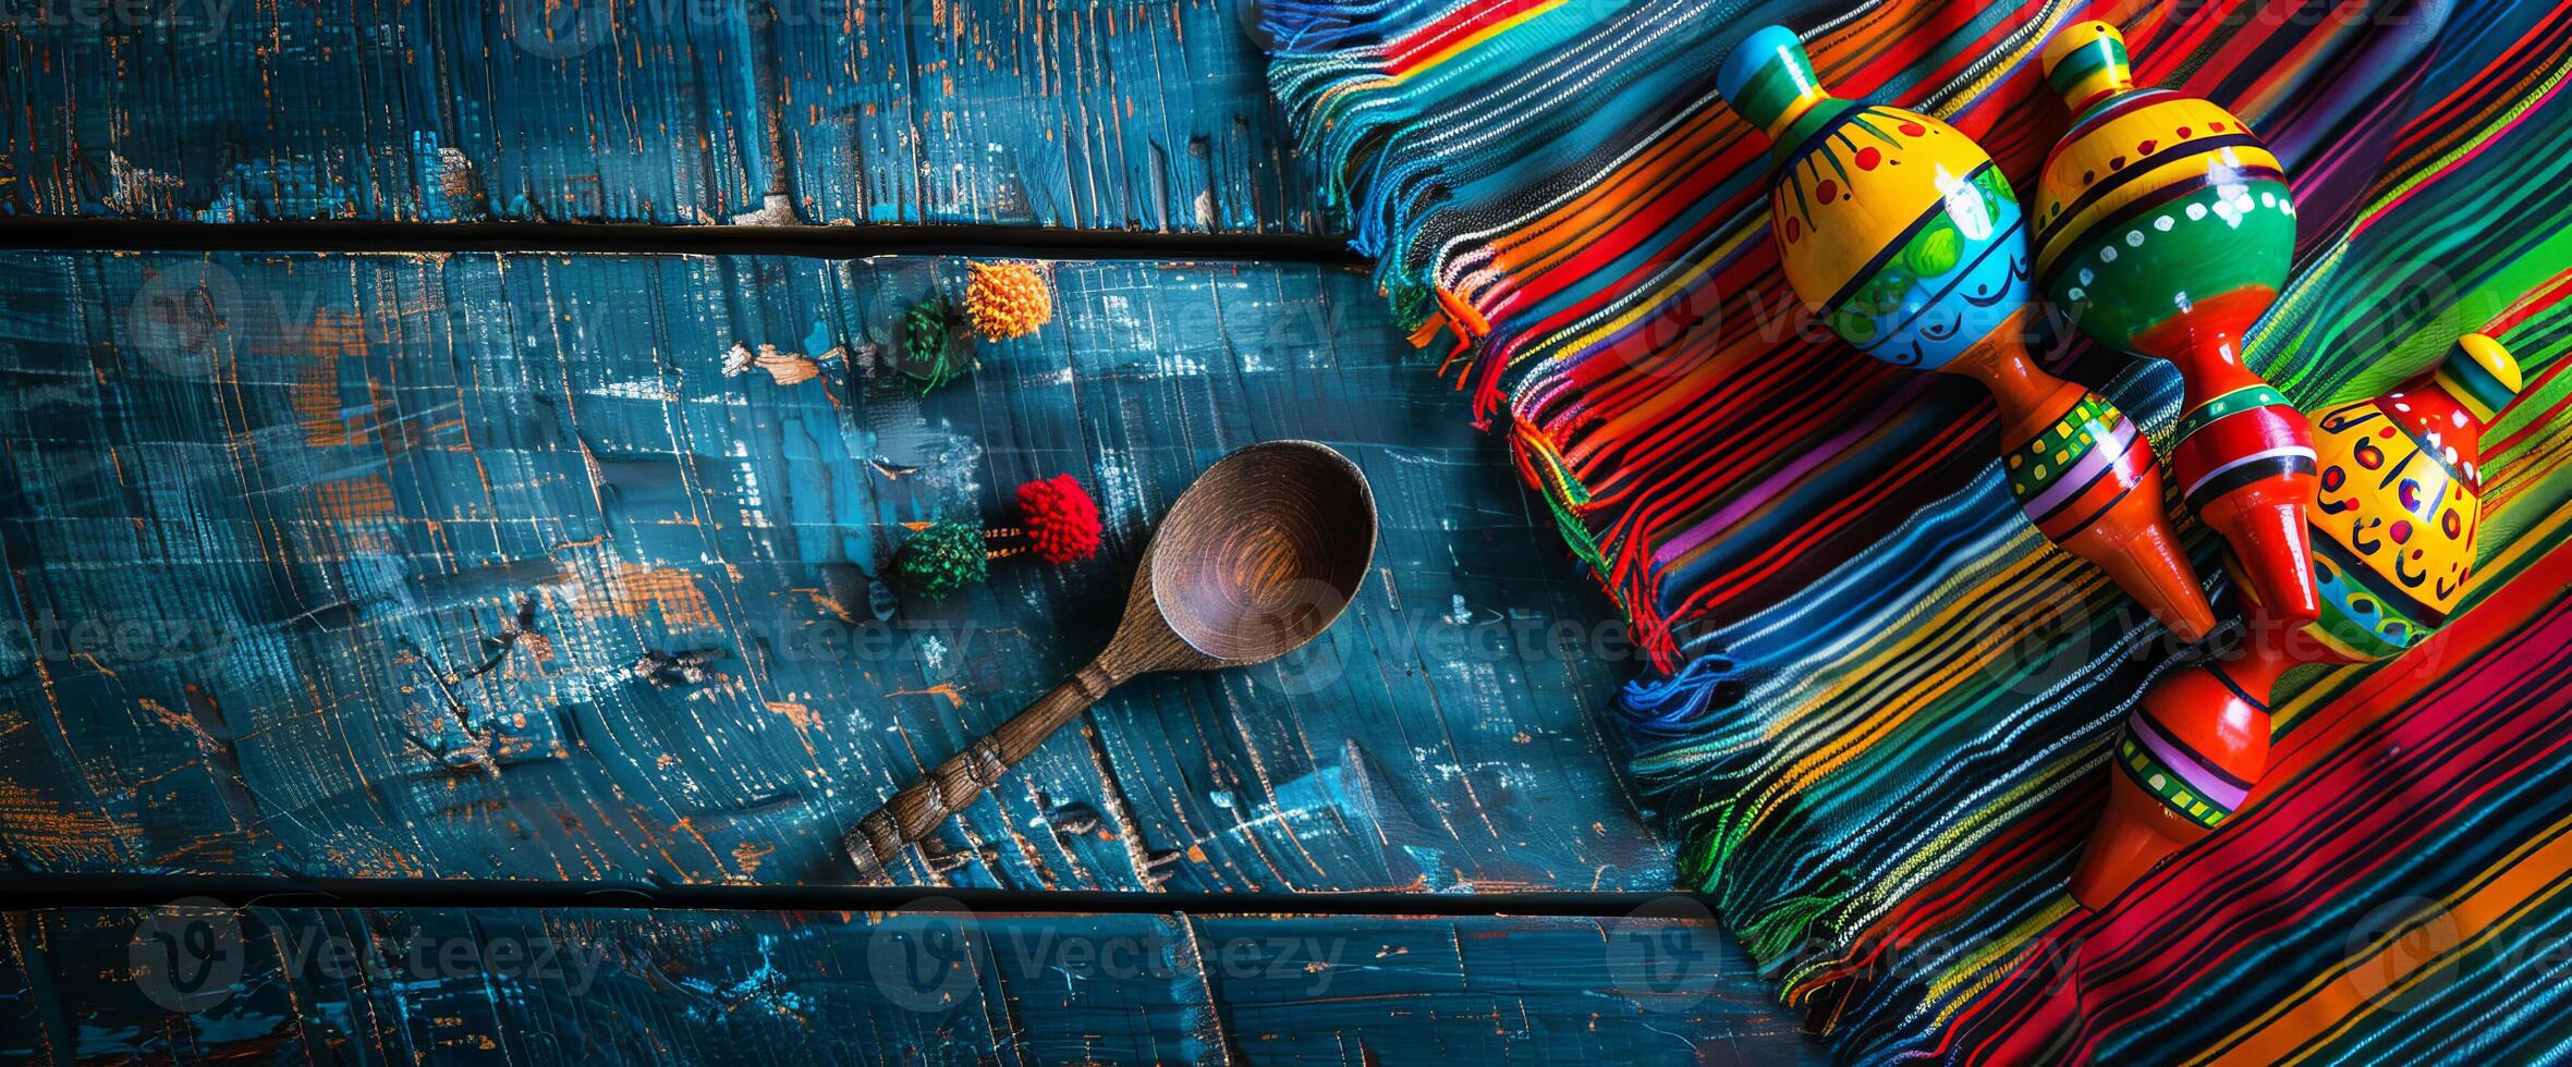
<instances>
[{"instance_id":1,"label":"brown wooden spoon with round bowl lying on blue planks","mask_svg":"<svg viewBox=\"0 0 2572 1067\"><path fill-rule=\"evenodd\" d=\"M1348 609L1373 555L1376 494L1345 455L1273 440L1214 460L1142 550L1109 648L862 818L846 838L859 874L882 882L887 859L1127 679L1265 663L1301 648Z\"/></svg>"}]
</instances>

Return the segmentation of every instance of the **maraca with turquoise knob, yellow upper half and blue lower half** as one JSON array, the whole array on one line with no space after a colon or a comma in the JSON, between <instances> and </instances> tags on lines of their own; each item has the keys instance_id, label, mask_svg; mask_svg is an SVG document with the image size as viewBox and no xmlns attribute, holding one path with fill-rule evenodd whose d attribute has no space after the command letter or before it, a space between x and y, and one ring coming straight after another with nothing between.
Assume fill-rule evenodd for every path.
<instances>
[{"instance_id":1,"label":"maraca with turquoise knob, yellow upper half and blue lower half","mask_svg":"<svg viewBox=\"0 0 2572 1067\"><path fill-rule=\"evenodd\" d=\"M1785 26L1752 31L1716 82L1775 144L1770 231L1795 296L1860 352L1991 386L2009 489L2037 530L2204 638L2214 609L2160 509L2150 442L2027 355L2027 226L1991 157L1937 118L1824 93Z\"/></svg>"}]
</instances>

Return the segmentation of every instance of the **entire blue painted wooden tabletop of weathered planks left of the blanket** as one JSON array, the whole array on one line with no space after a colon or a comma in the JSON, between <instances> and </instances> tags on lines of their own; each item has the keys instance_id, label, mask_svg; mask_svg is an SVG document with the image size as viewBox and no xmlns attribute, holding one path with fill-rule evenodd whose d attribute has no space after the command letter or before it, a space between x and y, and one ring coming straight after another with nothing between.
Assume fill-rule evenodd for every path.
<instances>
[{"instance_id":1,"label":"entire blue painted wooden tabletop of weathered planks left of the blanket","mask_svg":"<svg viewBox=\"0 0 2572 1067\"><path fill-rule=\"evenodd\" d=\"M1672 884L1605 715L1633 656L1312 252L1237 8L0 26L0 877L41 897L0 1057L1811 1057L1703 910L1626 910ZM936 224L1057 319L918 396L880 352L970 262ZM1376 486L1353 612L1121 689L898 905L833 897L838 836L1096 650L1170 499L1271 437ZM1098 560L877 578L1052 473Z\"/></svg>"}]
</instances>

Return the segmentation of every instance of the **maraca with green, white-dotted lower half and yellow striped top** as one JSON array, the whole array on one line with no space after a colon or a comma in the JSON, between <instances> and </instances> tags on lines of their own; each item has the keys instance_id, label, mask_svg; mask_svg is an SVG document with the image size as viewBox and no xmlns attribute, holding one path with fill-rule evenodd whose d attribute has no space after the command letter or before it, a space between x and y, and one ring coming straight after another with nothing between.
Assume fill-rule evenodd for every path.
<instances>
[{"instance_id":1,"label":"maraca with green, white-dotted lower half and yellow striped top","mask_svg":"<svg viewBox=\"0 0 2572 1067\"><path fill-rule=\"evenodd\" d=\"M2101 345L2178 365L2181 494L2261 612L2312 620L2312 429L2240 360L2294 257L2287 175L2225 108L2137 90L2109 23L2055 33L2045 80L2076 118L2037 177L2037 285Z\"/></svg>"}]
</instances>

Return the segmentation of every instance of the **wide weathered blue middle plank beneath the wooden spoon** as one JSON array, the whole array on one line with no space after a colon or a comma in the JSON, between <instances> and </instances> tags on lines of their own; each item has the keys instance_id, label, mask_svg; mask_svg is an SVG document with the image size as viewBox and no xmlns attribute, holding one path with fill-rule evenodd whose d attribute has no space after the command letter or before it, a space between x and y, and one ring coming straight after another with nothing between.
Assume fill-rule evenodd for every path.
<instances>
[{"instance_id":1,"label":"wide weathered blue middle plank beneath the wooden spoon","mask_svg":"<svg viewBox=\"0 0 2572 1067\"><path fill-rule=\"evenodd\" d=\"M1353 273L1055 265L1057 324L918 399L846 352L959 262L0 270L15 872L844 882L856 815L1103 643L1204 463L1314 437L1384 504L1355 609L1289 661L1121 689L903 877L1672 879L1605 717L1610 607ZM725 375L736 345L826 365ZM1101 560L877 614L900 522L1065 471Z\"/></svg>"}]
</instances>

